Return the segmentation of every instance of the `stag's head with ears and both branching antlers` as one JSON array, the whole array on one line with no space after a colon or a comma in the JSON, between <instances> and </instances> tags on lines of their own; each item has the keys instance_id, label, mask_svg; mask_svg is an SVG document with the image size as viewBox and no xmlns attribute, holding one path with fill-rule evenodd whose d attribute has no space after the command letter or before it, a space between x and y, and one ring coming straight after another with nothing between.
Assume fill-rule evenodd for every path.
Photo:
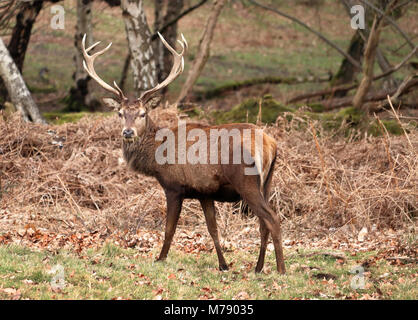
<instances>
[{"instance_id":1,"label":"stag's head with ears and both branching antlers","mask_svg":"<svg viewBox=\"0 0 418 320\"><path fill-rule=\"evenodd\" d=\"M109 50L112 43L110 43L103 50L89 55L89 51L95 48L100 43L100 41L86 49L86 35L84 35L82 40L84 69L87 71L89 76L92 77L103 89L115 95L116 98L103 98L103 103L118 113L122 121L122 137L126 142L135 141L145 132L148 121L147 102L150 100L153 94L168 86L184 70L184 54L187 51L188 45L183 34L181 34L181 40L177 40L182 48L180 53L174 50L159 32L158 35L164 46L173 54L173 67L163 82L157 84L154 88L145 91L139 98L135 99L134 101L130 101L123 94L122 90L118 87L115 81L113 81L113 86L107 84L97 75L96 71L94 70L94 60Z\"/></svg>"}]
</instances>

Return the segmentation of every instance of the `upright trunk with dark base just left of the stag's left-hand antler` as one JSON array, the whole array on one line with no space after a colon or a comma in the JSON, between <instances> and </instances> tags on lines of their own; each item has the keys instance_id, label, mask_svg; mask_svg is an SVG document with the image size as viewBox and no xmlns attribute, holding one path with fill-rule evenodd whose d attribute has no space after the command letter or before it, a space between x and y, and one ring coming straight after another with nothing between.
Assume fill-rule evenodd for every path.
<instances>
[{"instance_id":1,"label":"upright trunk with dark base just left of the stag's left-hand antler","mask_svg":"<svg viewBox=\"0 0 418 320\"><path fill-rule=\"evenodd\" d=\"M74 62L75 72L73 79L75 86L70 89L67 99L67 110L78 112L82 107L89 106L91 110L95 109L95 103L92 99L89 81L90 76L83 68L83 53L81 48L81 40L86 34L86 47L93 44L92 32L92 4L93 0L77 0L77 25L74 36Z\"/></svg>"}]
</instances>

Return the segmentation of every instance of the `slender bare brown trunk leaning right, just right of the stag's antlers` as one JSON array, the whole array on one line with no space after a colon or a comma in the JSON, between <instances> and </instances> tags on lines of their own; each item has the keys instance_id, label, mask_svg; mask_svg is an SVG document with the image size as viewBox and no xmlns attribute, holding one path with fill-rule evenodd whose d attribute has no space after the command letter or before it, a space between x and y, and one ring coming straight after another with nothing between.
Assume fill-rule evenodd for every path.
<instances>
[{"instance_id":1,"label":"slender bare brown trunk leaning right, just right of the stag's antlers","mask_svg":"<svg viewBox=\"0 0 418 320\"><path fill-rule=\"evenodd\" d=\"M187 75L187 79L183 88L181 89L180 95L177 98L177 103L182 103L187 96L190 94L193 85L199 78L206 61L210 54L210 44L212 42L213 33L215 30L216 22L218 21L219 14L225 5L226 0L214 0L211 13L206 22L205 30L200 38L199 47L197 49L196 58L193 61L193 65Z\"/></svg>"}]
</instances>

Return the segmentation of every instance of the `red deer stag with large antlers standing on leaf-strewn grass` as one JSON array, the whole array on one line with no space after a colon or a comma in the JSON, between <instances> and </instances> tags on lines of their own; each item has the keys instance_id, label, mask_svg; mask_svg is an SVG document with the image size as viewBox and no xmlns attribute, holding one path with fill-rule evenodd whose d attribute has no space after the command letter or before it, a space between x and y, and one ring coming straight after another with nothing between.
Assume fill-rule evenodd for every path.
<instances>
[{"instance_id":1,"label":"red deer stag with large antlers standing on leaf-strewn grass","mask_svg":"<svg viewBox=\"0 0 418 320\"><path fill-rule=\"evenodd\" d=\"M147 102L155 92L169 85L183 72L183 56L187 50L187 42L183 35L181 35L181 40L178 40L182 47L180 53L175 51L161 35L159 36L166 48L173 54L173 67L163 82L145 91L134 101L129 101L115 82L112 87L104 82L94 70L94 60L107 51L111 44L89 55L89 51L98 43L86 49L85 37L82 41L84 68L97 83L117 97L117 99L104 98L103 102L106 106L114 108L122 120L122 150L128 166L134 171L155 177L165 191L167 198L165 238L157 260L164 260L167 257L183 200L197 199L202 206L206 224L215 245L219 269L227 270L228 265L219 244L214 201L244 200L259 217L260 222L261 246L255 271L260 272L263 269L267 241L271 234L277 270L285 273L280 219L268 205L268 194L276 159L275 140L255 125L244 123L207 126L183 122L182 125L179 124L174 128L159 128L148 116ZM257 138L257 132L260 139ZM211 138L210 143L204 140L208 136ZM164 140L163 137L166 139ZM199 140L197 141L196 138ZM219 140L221 143L218 143ZM232 148L229 148L230 141L233 142ZM257 141L260 142L258 147ZM178 152L171 152L176 146L178 146ZM165 147L164 152L161 152L162 147ZM196 150L199 151L197 160L194 157ZM206 154L207 150L210 151L210 162L205 162L204 157L201 157ZM222 158L221 163L218 162L219 153ZM186 161L186 154L189 161ZM256 169L256 173L248 173L247 169L251 161L245 161L245 163L239 161L241 155L244 158L245 155L250 155L254 164L252 168ZM161 161L161 159L167 161Z\"/></svg>"}]
</instances>

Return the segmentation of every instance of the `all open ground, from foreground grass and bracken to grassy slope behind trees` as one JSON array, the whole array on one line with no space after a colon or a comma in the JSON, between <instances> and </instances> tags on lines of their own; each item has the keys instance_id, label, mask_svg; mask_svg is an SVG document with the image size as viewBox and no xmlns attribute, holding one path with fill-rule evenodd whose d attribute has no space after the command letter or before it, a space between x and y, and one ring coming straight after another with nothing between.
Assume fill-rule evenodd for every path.
<instances>
[{"instance_id":1,"label":"all open ground, from foreground grass and bracken to grassy slope behind trees","mask_svg":"<svg viewBox=\"0 0 418 320\"><path fill-rule=\"evenodd\" d=\"M281 9L346 48L353 32L349 20L335 1L324 3L320 15L299 2ZM95 39L113 42L97 71L118 80L126 52L120 9L95 6ZM65 30L50 29L51 14L42 11L25 62L25 80L42 111L62 109L72 84L75 1L66 1L65 8ZM208 10L180 22L191 45L186 73ZM418 30L415 16L410 12L402 27ZM196 92L265 75L321 76L335 73L341 62L300 27L238 2L225 9L218 28ZM406 46L399 49L402 44L396 32L385 30L381 46L393 64L408 53ZM49 73L41 79L44 67ZM184 79L170 86L169 100ZM202 105L229 110L266 93L283 102L323 87L257 85ZM151 116L168 126L178 119L173 108L158 108ZM40 126L0 117L0 299L418 298L416 126L398 136L382 131L371 137L347 123L327 131L297 114L267 126L279 149L271 197L285 247L287 274L279 275L271 244L263 272L254 273L258 220L231 204L217 204L230 265L230 271L218 271L203 214L192 200L184 203L167 261L155 263L163 240L164 193L154 179L126 169L117 117L50 114L54 118L54 124ZM63 267L63 286L56 282L57 266Z\"/></svg>"}]
</instances>

